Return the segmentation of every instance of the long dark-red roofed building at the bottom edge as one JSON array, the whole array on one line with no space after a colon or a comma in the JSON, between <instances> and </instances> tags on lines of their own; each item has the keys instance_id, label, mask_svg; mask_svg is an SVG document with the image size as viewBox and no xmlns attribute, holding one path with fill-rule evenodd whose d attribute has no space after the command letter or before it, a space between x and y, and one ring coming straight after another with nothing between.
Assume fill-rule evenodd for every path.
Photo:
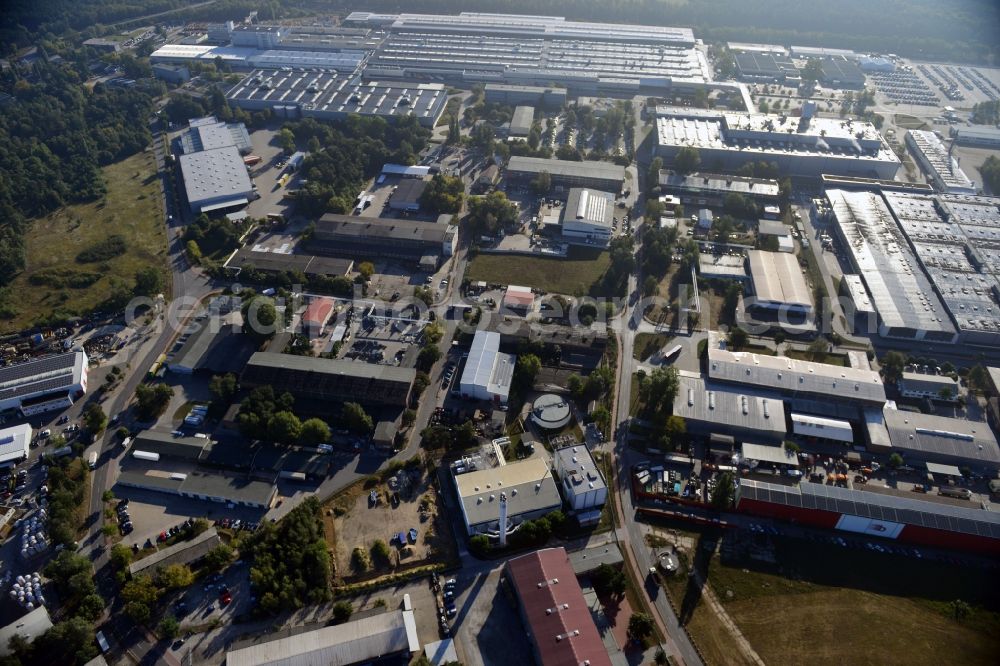
<instances>
[{"instance_id":1,"label":"long dark-red roofed building at the bottom edge","mask_svg":"<svg viewBox=\"0 0 1000 666\"><path fill-rule=\"evenodd\" d=\"M565 548L509 560L507 576L541 666L611 666Z\"/></svg>"}]
</instances>

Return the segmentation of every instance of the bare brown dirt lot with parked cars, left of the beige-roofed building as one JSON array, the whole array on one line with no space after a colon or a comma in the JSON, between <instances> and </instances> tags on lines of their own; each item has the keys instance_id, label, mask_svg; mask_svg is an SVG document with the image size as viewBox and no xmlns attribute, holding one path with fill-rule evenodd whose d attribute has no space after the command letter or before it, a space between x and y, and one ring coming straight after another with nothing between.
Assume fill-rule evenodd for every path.
<instances>
[{"instance_id":1,"label":"bare brown dirt lot with parked cars, left of the beige-roofed building","mask_svg":"<svg viewBox=\"0 0 1000 666\"><path fill-rule=\"evenodd\" d=\"M437 490L429 481L423 470L405 469L374 485L351 486L328 505L324 518L338 579L357 582L453 556L447 525L438 515ZM416 539L409 537L411 528ZM405 544L399 542L400 533L406 535ZM373 548L378 541L389 546L387 559ZM353 556L357 548L366 554L367 567L358 566Z\"/></svg>"}]
</instances>

